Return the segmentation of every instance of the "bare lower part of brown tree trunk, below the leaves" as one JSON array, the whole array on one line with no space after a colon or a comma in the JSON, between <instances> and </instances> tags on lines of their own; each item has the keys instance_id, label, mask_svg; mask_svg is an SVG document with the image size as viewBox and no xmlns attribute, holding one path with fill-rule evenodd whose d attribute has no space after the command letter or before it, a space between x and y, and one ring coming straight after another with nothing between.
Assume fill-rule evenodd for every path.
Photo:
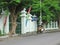
<instances>
[{"instance_id":1,"label":"bare lower part of brown tree trunk, below the leaves","mask_svg":"<svg viewBox=\"0 0 60 45\"><path fill-rule=\"evenodd\" d=\"M10 35L16 34L16 27L17 27L17 15L14 15L14 13L11 14L11 30L10 30Z\"/></svg>"}]
</instances>

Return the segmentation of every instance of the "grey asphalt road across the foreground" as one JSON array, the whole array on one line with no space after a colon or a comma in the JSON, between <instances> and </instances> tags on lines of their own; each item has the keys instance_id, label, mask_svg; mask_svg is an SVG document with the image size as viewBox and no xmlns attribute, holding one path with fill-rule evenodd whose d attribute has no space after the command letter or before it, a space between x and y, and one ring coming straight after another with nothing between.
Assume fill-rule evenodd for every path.
<instances>
[{"instance_id":1,"label":"grey asphalt road across the foreground","mask_svg":"<svg viewBox=\"0 0 60 45\"><path fill-rule=\"evenodd\" d=\"M60 45L60 32L8 38L0 41L0 45Z\"/></svg>"}]
</instances>

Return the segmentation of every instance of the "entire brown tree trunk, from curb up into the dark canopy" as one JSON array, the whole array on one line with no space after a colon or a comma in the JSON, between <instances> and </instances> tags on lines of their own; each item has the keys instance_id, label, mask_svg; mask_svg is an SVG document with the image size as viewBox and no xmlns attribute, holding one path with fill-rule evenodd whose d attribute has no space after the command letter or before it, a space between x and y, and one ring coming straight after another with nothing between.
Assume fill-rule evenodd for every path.
<instances>
[{"instance_id":1,"label":"entire brown tree trunk, from curb up into the dark canopy","mask_svg":"<svg viewBox=\"0 0 60 45\"><path fill-rule=\"evenodd\" d=\"M16 22L16 20L17 20L17 13L15 12L16 11L16 7L12 7L12 9L11 9L11 30L10 30L10 35L12 35L12 34L16 34L15 32L16 32L16 27L17 27L17 22Z\"/></svg>"}]
</instances>

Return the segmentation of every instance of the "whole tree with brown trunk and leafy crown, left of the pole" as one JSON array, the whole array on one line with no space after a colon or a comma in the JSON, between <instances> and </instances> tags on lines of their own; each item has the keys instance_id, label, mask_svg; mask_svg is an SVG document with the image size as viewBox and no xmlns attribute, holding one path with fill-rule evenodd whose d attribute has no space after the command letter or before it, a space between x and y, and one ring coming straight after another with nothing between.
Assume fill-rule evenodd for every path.
<instances>
[{"instance_id":1,"label":"whole tree with brown trunk and leafy crown, left of the pole","mask_svg":"<svg viewBox=\"0 0 60 45\"><path fill-rule=\"evenodd\" d=\"M37 2L38 3L37 3ZM10 33L11 34L15 34L15 30L17 27L17 23L16 20L20 14L20 11L23 8L29 8L30 6L32 6L32 12L39 12L39 1L40 0L0 0L0 8L3 8L5 10L8 10L10 12L10 17L11 17L11 22L12 22L12 28ZM35 7L34 7L35 6ZM36 7L37 6L37 7ZM37 10L35 10L37 9ZM35 10L35 11L33 11Z\"/></svg>"}]
</instances>

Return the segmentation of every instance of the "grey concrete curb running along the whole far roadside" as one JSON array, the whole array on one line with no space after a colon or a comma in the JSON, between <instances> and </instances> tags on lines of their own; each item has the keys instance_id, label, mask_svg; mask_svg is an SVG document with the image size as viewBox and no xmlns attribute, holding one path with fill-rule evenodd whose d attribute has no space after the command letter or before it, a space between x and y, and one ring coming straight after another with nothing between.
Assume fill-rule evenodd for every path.
<instances>
[{"instance_id":1,"label":"grey concrete curb running along the whole far roadside","mask_svg":"<svg viewBox=\"0 0 60 45\"><path fill-rule=\"evenodd\" d=\"M55 33L55 32L60 32L60 30L45 30L43 33L39 33L39 34L45 34L45 33ZM15 34L12 35L12 37L27 37L27 36L34 36L34 35L38 35L37 32L28 32L26 34ZM5 36L0 36L0 39L5 39L5 38L9 38L9 35L5 35Z\"/></svg>"}]
</instances>

